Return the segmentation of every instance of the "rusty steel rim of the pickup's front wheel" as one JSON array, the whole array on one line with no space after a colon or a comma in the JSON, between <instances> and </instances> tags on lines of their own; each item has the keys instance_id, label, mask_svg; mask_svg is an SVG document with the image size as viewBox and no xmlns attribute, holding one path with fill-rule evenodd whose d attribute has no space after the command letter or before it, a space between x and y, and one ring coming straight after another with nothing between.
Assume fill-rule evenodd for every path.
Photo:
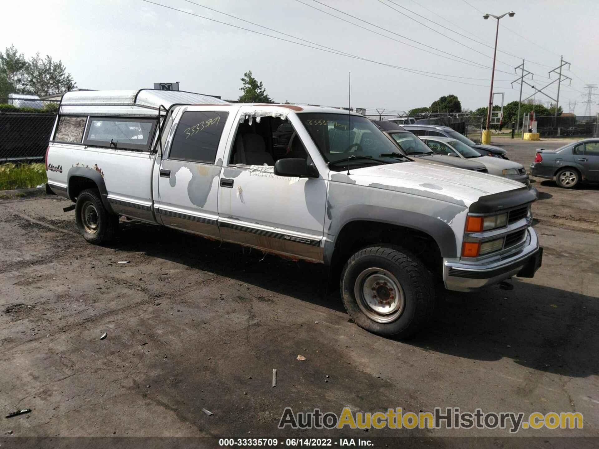
<instances>
[{"instance_id":1,"label":"rusty steel rim of the pickup's front wheel","mask_svg":"<svg viewBox=\"0 0 599 449\"><path fill-rule=\"evenodd\" d=\"M392 323L404 311L405 296L395 275L383 268L367 268L356 278L358 307L377 323Z\"/></svg>"}]
</instances>

